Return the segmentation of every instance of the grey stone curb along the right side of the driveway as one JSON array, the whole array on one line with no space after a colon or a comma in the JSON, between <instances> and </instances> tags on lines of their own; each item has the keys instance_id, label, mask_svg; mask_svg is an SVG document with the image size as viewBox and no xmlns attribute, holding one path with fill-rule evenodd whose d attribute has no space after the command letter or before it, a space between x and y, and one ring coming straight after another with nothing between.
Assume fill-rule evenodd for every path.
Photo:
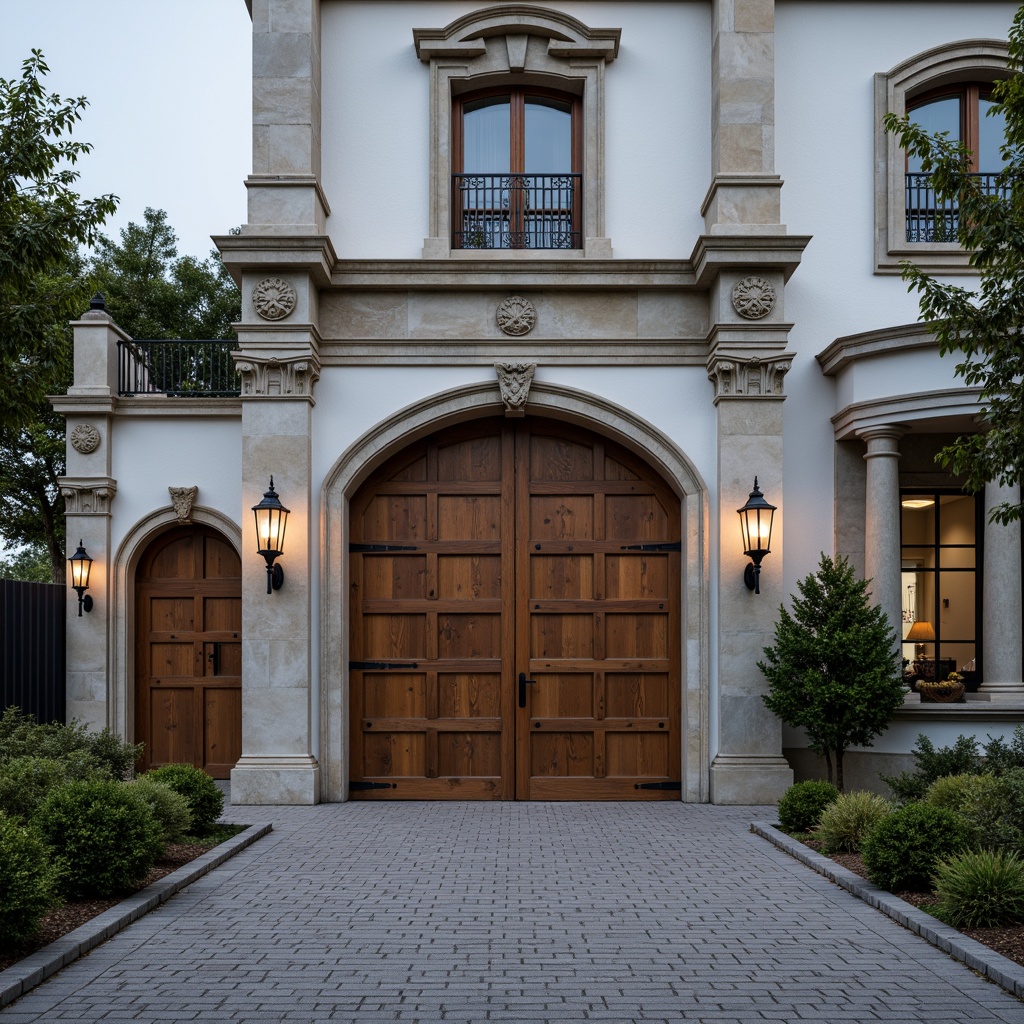
<instances>
[{"instance_id":1,"label":"grey stone curb along the right side of the driveway","mask_svg":"<svg viewBox=\"0 0 1024 1024\"><path fill-rule=\"evenodd\" d=\"M880 889L866 879L837 864L835 860L815 853L803 843L769 824L755 821L751 824L751 831L768 840L808 867L814 868L819 874L842 886L915 935L931 942L933 946L962 961L971 970L994 981L1011 994L1024 998L1024 967L995 952L994 949L968 938L955 928L943 925L937 918L919 910L918 907L893 896L885 889Z\"/></svg>"}]
</instances>

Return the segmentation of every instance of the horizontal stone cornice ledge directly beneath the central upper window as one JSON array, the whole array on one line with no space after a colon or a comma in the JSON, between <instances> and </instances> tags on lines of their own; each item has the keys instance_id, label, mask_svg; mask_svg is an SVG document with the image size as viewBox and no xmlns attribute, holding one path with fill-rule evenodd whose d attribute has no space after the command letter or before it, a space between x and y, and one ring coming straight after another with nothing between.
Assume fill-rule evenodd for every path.
<instances>
[{"instance_id":1,"label":"horizontal stone cornice ledge directly beneath the central upper window","mask_svg":"<svg viewBox=\"0 0 1024 1024\"><path fill-rule=\"evenodd\" d=\"M439 260L343 260L334 268L335 288L366 291L474 291L507 288L681 289L696 280L686 260L574 260L564 256Z\"/></svg>"}]
</instances>

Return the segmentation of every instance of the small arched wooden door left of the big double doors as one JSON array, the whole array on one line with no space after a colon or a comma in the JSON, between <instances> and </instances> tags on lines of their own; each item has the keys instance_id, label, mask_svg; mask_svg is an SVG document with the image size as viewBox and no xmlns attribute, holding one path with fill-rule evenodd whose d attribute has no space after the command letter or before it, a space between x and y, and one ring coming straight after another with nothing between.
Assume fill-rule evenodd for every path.
<instances>
[{"instance_id":1,"label":"small arched wooden door left of the big double doors","mask_svg":"<svg viewBox=\"0 0 1024 1024\"><path fill-rule=\"evenodd\" d=\"M206 526L146 549L135 575L135 739L146 768L227 778L242 756L242 563Z\"/></svg>"}]
</instances>

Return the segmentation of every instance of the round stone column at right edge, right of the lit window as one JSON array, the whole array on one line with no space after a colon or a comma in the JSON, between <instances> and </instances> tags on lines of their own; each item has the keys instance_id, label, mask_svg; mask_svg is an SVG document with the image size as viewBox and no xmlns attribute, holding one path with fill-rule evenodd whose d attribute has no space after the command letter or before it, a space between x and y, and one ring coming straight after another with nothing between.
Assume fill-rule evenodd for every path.
<instances>
[{"instance_id":1,"label":"round stone column at right edge, right of the lit window","mask_svg":"<svg viewBox=\"0 0 1024 1024\"><path fill-rule=\"evenodd\" d=\"M1024 700L1021 678L1021 524L1000 526L988 514L1004 502L1016 505L1020 486L985 486L985 563L982 669L979 697Z\"/></svg>"}]
</instances>

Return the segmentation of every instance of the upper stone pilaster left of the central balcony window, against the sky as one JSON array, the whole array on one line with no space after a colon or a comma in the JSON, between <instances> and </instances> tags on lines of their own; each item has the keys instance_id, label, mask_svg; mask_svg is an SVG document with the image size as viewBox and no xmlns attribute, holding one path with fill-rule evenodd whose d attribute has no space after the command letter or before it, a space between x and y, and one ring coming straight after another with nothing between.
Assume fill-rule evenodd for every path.
<instances>
[{"instance_id":1,"label":"upper stone pilaster left of the central balcony window, against the sky","mask_svg":"<svg viewBox=\"0 0 1024 1024\"><path fill-rule=\"evenodd\" d=\"M244 233L322 234L319 0L252 0L253 171Z\"/></svg>"}]
</instances>

